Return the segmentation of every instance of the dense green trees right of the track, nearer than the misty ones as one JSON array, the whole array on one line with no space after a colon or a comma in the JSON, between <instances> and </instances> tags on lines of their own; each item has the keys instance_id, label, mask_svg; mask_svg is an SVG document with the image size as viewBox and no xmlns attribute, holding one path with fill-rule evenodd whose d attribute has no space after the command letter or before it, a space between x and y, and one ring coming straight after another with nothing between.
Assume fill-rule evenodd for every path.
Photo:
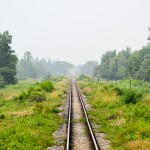
<instances>
[{"instance_id":1,"label":"dense green trees right of the track, nearer than the misty ones","mask_svg":"<svg viewBox=\"0 0 150 150\"><path fill-rule=\"evenodd\" d=\"M118 54L116 50L106 52L101 64L94 69L94 76L107 80L130 77L150 81L150 44L133 53L130 48Z\"/></svg>"}]
</instances>

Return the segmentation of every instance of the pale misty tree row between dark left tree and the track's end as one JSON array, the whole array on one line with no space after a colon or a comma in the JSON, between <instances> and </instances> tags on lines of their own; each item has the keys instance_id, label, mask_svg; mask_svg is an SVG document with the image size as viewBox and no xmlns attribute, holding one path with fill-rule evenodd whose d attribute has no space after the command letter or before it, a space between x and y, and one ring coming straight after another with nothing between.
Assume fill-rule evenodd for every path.
<instances>
[{"instance_id":1,"label":"pale misty tree row between dark left tree and the track's end","mask_svg":"<svg viewBox=\"0 0 150 150\"><path fill-rule=\"evenodd\" d=\"M51 78L58 75L67 75L68 70L74 65L66 61L51 61L50 58L33 58L31 52L26 51L24 57L17 63L17 78Z\"/></svg>"}]
</instances>

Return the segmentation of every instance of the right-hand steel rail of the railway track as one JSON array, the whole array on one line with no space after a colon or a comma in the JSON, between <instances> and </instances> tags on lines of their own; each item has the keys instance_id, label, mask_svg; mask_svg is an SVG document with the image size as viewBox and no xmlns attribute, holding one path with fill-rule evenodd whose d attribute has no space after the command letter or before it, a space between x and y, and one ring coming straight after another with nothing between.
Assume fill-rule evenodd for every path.
<instances>
[{"instance_id":1,"label":"right-hand steel rail of the railway track","mask_svg":"<svg viewBox=\"0 0 150 150\"><path fill-rule=\"evenodd\" d=\"M92 144L93 144L95 150L100 150L100 148L97 144L97 140L95 138L92 126L90 124L87 112L86 112L86 108L85 108L85 104L84 104L84 101L83 101L83 98L82 98L82 95L81 95L81 92L80 92L80 88L79 88L79 86L77 85L76 82L75 82L75 85L76 85L78 96L79 96L79 99L81 101L81 105L82 105L82 108L83 108L83 111L84 111L84 115L85 115L85 118L86 118L86 123L87 123L88 129L89 129L89 132L90 132L90 136L91 136L91 139L92 139Z\"/></svg>"}]
</instances>

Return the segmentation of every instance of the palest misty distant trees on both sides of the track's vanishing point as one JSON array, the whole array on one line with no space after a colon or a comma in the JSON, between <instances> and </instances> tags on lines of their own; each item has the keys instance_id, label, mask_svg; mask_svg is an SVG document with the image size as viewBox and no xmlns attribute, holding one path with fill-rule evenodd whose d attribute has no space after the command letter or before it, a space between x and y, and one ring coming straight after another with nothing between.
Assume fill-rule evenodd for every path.
<instances>
[{"instance_id":1,"label":"palest misty distant trees on both sides of the track's vanishing point","mask_svg":"<svg viewBox=\"0 0 150 150\"><path fill-rule=\"evenodd\" d=\"M74 74L82 74L86 76L93 75L93 69L98 65L97 61L87 61L84 65L75 67L66 61L51 61L50 58L33 58L31 52L26 51L22 59L17 63L17 78L19 80L27 78L51 78L54 76L71 75L72 69L76 70Z\"/></svg>"}]
</instances>

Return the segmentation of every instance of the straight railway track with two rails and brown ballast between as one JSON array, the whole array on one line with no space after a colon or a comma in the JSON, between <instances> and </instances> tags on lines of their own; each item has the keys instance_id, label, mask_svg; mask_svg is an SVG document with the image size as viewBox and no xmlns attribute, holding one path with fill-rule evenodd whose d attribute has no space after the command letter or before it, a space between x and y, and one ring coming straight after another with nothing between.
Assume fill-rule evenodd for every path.
<instances>
[{"instance_id":1,"label":"straight railway track with two rails and brown ballast between","mask_svg":"<svg viewBox=\"0 0 150 150\"><path fill-rule=\"evenodd\" d=\"M100 150L75 80L70 84L66 150Z\"/></svg>"}]
</instances>

